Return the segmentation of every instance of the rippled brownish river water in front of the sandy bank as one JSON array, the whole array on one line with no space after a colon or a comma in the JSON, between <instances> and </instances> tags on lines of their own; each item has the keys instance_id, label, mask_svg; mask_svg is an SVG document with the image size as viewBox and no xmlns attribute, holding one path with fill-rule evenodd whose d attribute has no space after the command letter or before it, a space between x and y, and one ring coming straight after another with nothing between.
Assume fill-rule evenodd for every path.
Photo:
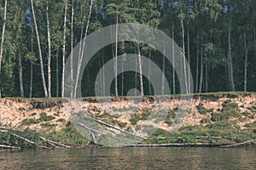
<instances>
[{"instance_id":1,"label":"rippled brownish river water in front of the sandy bank","mask_svg":"<svg viewBox=\"0 0 256 170\"><path fill-rule=\"evenodd\" d=\"M95 148L1 151L0 169L256 169L256 149Z\"/></svg>"}]
</instances>

